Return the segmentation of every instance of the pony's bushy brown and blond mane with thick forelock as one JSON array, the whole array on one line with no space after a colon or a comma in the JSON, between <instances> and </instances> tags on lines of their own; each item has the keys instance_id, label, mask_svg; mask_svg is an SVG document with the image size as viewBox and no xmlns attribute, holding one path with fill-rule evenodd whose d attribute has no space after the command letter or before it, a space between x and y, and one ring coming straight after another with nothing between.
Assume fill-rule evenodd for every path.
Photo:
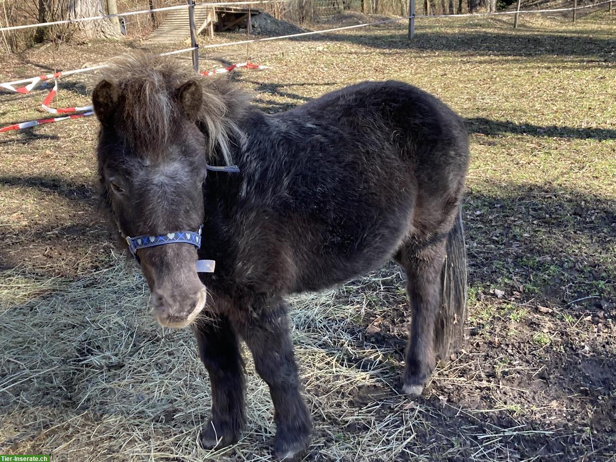
<instances>
[{"instance_id":1,"label":"pony's bushy brown and blond mane with thick forelock","mask_svg":"<svg viewBox=\"0 0 616 462\"><path fill-rule=\"evenodd\" d=\"M191 79L197 81L203 91L197 124L208 139L208 151L218 151L232 163L229 144L245 138L237 122L250 98L229 79L198 75L176 59L146 53L114 60L102 78L119 89L116 126L129 143L146 149L169 141L181 114L176 90Z\"/></svg>"}]
</instances>

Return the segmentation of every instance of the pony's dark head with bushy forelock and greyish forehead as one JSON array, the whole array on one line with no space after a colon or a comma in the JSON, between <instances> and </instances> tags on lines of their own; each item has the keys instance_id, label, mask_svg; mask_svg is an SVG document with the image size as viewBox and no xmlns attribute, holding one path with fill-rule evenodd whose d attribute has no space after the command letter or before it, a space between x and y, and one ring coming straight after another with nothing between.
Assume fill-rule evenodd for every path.
<instances>
[{"instance_id":1,"label":"pony's dark head with bushy forelock and greyish forehead","mask_svg":"<svg viewBox=\"0 0 616 462\"><path fill-rule=\"evenodd\" d=\"M208 161L229 163L245 97L225 81L206 82L171 59L143 54L111 65L92 100L103 208L121 243L138 237L133 243L144 244L133 250L158 322L184 327L206 302L197 245L188 241L205 218ZM187 239L174 241L178 232Z\"/></svg>"}]
</instances>

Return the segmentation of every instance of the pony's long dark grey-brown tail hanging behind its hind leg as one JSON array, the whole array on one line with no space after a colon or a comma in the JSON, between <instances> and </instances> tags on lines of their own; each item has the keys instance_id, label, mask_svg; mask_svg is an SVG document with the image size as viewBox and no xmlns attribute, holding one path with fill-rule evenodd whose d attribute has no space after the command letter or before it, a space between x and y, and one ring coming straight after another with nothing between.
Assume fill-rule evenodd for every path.
<instances>
[{"instance_id":1,"label":"pony's long dark grey-brown tail hanging behind its hind leg","mask_svg":"<svg viewBox=\"0 0 616 462\"><path fill-rule=\"evenodd\" d=\"M466 322L466 247L460 208L447 237L447 255L440 274L440 287L441 301L434 330L434 347L440 360L447 363L450 353L462 346Z\"/></svg>"}]
</instances>

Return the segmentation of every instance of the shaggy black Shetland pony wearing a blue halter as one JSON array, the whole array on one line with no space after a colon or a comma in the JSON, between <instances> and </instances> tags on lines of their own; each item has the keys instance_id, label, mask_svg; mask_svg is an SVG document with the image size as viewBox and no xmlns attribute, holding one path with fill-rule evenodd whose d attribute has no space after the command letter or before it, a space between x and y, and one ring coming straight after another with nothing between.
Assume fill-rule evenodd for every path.
<instances>
[{"instance_id":1,"label":"shaggy black Shetland pony wearing a blue halter","mask_svg":"<svg viewBox=\"0 0 616 462\"><path fill-rule=\"evenodd\" d=\"M158 321L192 325L209 373L204 447L232 444L245 424L243 339L274 402L275 455L306 450L312 419L285 296L392 257L412 316L403 391L421 394L465 316L469 151L450 108L387 81L266 115L229 81L151 55L113 65L93 100L103 206L140 262ZM231 163L239 172L211 169ZM201 256L216 261L213 273L198 274Z\"/></svg>"}]
</instances>

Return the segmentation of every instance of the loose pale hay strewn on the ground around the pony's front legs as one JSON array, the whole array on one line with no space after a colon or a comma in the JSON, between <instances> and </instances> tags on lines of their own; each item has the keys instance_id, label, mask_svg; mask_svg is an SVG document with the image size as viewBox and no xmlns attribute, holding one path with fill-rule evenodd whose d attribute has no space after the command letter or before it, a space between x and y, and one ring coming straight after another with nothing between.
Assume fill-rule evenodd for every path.
<instances>
[{"instance_id":1,"label":"loose pale hay strewn on the ground around the pony's front legs","mask_svg":"<svg viewBox=\"0 0 616 462\"><path fill-rule=\"evenodd\" d=\"M4 452L52 453L54 460L269 459L272 407L250 362L245 437L218 452L197 448L208 380L189 332L161 328L145 312L147 288L136 272L118 264L74 282L25 274L20 280L2 291L9 301L0 314L7 331L0 341ZM447 404L399 395L395 349L358 342L357 319L374 308L367 296L401 282L399 274L371 275L291 301L296 352L317 420L313 451L322 459L430 460L441 449L418 434L438 434L434 423ZM519 432L490 424L477 435L477 419L458 412L472 431L460 433L461 443L474 452L501 451L502 440Z\"/></svg>"}]
</instances>

